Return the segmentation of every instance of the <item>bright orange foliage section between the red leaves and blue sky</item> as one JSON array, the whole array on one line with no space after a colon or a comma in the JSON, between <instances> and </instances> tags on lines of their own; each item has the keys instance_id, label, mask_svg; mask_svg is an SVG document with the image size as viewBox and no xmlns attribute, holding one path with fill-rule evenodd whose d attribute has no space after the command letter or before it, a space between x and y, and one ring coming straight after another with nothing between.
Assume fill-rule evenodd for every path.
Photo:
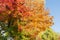
<instances>
[{"instance_id":1,"label":"bright orange foliage section between the red leaves and blue sky","mask_svg":"<svg viewBox=\"0 0 60 40\"><path fill-rule=\"evenodd\" d=\"M28 1L30 2L30 1ZM23 14L21 17L21 22L19 24L19 30L25 30L30 33L32 37L36 36L39 32L44 31L49 28L52 22L52 16L49 16L49 12L44 9L43 3L35 3L32 10ZM38 5L37 5L38 4ZM33 5L32 5L33 6Z\"/></svg>"}]
</instances>

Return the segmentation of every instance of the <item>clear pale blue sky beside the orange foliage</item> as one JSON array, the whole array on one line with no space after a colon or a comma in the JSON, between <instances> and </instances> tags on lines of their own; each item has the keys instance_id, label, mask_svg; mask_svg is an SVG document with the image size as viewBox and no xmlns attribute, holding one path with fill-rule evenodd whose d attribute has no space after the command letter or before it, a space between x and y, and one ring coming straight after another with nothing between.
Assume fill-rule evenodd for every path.
<instances>
[{"instance_id":1,"label":"clear pale blue sky beside the orange foliage","mask_svg":"<svg viewBox=\"0 0 60 40\"><path fill-rule=\"evenodd\" d=\"M46 7L50 9L50 14L54 16L52 29L60 33L60 0L46 0Z\"/></svg>"}]
</instances>

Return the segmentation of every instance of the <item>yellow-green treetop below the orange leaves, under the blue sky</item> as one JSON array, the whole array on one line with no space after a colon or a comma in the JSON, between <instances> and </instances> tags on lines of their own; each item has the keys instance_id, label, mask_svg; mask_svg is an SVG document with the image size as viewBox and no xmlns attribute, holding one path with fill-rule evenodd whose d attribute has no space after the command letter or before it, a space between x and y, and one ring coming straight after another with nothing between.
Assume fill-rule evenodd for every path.
<instances>
[{"instance_id":1,"label":"yellow-green treetop below the orange leaves, under the blue sky","mask_svg":"<svg viewBox=\"0 0 60 40\"><path fill-rule=\"evenodd\" d=\"M42 40L58 40L58 35L51 28L47 29L42 35L39 34Z\"/></svg>"}]
</instances>

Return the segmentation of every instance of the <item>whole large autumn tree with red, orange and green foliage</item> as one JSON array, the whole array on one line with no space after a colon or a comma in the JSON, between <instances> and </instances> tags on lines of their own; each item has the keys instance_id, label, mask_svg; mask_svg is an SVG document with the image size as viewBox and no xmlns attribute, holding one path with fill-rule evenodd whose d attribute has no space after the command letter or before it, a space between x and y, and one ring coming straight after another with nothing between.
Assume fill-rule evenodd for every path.
<instances>
[{"instance_id":1,"label":"whole large autumn tree with red, orange and green foliage","mask_svg":"<svg viewBox=\"0 0 60 40\"><path fill-rule=\"evenodd\" d=\"M40 32L52 26L52 19L43 1L0 0L0 23L3 23L0 26L14 40L35 40Z\"/></svg>"}]
</instances>

